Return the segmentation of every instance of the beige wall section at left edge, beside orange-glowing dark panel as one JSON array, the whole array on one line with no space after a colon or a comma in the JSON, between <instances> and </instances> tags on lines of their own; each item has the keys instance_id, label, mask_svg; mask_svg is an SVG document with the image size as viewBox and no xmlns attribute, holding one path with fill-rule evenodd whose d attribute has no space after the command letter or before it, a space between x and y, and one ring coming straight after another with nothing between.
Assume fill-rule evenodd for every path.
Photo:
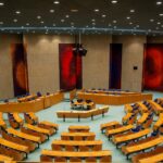
<instances>
[{"instance_id":1,"label":"beige wall section at left edge, beside orange-glowing dark panel","mask_svg":"<svg viewBox=\"0 0 163 163\"><path fill-rule=\"evenodd\" d=\"M13 98L11 45L21 42L18 35L0 35L0 99Z\"/></svg>"}]
</instances>

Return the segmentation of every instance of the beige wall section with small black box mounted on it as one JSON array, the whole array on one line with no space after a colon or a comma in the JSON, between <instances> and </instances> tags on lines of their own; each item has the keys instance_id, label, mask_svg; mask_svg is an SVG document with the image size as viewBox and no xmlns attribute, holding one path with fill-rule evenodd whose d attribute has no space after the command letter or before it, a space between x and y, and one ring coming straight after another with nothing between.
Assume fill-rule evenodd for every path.
<instances>
[{"instance_id":1,"label":"beige wall section with small black box mounted on it","mask_svg":"<svg viewBox=\"0 0 163 163\"><path fill-rule=\"evenodd\" d=\"M123 43L122 89L141 91L146 36L113 36L113 42ZM138 66L138 70L134 70L134 66Z\"/></svg>"}]
</instances>

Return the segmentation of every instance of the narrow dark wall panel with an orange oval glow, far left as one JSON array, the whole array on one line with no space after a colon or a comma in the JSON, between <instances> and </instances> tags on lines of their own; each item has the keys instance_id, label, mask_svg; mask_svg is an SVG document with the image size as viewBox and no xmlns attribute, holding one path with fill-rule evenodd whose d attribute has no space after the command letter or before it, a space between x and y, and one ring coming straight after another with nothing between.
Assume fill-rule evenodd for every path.
<instances>
[{"instance_id":1,"label":"narrow dark wall panel with an orange oval glow, far left","mask_svg":"<svg viewBox=\"0 0 163 163\"><path fill-rule=\"evenodd\" d=\"M11 45L14 96L28 92L26 49L23 43Z\"/></svg>"}]
</instances>

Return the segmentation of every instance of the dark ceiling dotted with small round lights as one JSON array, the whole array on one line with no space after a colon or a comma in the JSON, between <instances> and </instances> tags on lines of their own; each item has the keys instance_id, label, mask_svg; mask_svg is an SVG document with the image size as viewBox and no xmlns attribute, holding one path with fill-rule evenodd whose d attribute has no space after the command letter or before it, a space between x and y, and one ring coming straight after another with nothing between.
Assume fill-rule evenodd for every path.
<instances>
[{"instance_id":1,"label":"dark ceiling dotted with small round lights","mask_svg":"<svg viewBox=\"0 0 163 163\"><path fill-rule=\"evenodd\" d=\"M0 0L0 4L3 33L163 35L163 0L59 0L58 4L55 0Z\"/></svg>"}]
</instances>

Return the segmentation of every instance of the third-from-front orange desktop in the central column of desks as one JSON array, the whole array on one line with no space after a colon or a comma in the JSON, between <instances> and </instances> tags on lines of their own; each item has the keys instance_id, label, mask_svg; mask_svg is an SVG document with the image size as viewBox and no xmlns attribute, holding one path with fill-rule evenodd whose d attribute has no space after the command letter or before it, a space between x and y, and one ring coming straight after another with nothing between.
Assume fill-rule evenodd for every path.
<instances>
[{"instance_id":1,"label":"third-from-front orange desktop in the central column of desks","mask_svg":"<svg viewBox=\"0 0 163 163\"><path fill-rule=\"evenodd\" d=\"M93 146L100 146L102 150L102 141L101 140L92 140L92 141L72 141L72 140L53 140L52 141L52 149L54 145L59 145L62 147L65 146L73 146L73 147L93 147Z\"/></svg>"}]
</instances>

